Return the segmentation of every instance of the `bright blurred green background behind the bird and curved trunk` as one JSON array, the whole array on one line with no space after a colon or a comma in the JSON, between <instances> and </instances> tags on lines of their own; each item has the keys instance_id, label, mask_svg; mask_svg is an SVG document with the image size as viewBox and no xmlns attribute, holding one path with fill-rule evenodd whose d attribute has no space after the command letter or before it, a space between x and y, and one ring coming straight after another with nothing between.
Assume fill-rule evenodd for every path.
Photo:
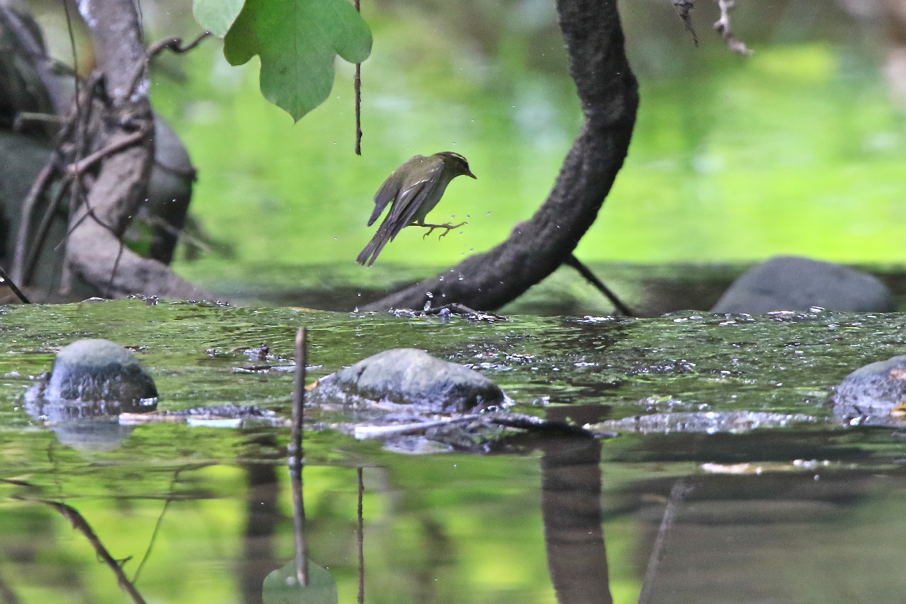
<instances>
[{"instance_id":1,"label":"bright blurred green background behind the bird and curved trunk","mask_svg":"<svg viewBox=\"0 0 906 604\"><path fill-rule=\"evenodd\" d=\"M580 258L900 263L906 119L882 73L883 23L827 0L741 0L735 30L755 50L743 58L711 31L714 4L693 14L696 48L670 2L621 3L641 109ZM142 9L149 41L197 32L188 0ZM158 63L154 105L198 167L192 211L220 244L201 267L354 266L373 234L371 196L416 153L468 158L478 180L456 180L431 215L468 225L440 240L404 230L381 263L454 264L545 200L581 119L554 3L364 0L362 11L374 34L362 157L348 63L328 102L295 125L258 93L256 60L229 66L217 40Z\"/></svg>"}]
</instances>

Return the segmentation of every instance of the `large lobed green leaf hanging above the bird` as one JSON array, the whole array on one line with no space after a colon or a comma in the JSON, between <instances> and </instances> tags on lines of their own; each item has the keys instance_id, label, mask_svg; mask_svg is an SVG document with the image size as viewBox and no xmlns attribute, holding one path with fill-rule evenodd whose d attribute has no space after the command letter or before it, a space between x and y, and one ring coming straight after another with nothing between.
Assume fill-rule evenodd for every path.
<instances>
[{"instance_id":1,"label":"large lobed green leaf hanging above the bird","mask_svg":"<svg viewBox=\"0 0 906 604\"><path fill-rule=\"evenodd\" d=\"M347 0L246 0L224 37L234 65L261 57L261 93L298 121L333 87L337 54L361 63L371 30Z\"/></svg>"}]
</instances>

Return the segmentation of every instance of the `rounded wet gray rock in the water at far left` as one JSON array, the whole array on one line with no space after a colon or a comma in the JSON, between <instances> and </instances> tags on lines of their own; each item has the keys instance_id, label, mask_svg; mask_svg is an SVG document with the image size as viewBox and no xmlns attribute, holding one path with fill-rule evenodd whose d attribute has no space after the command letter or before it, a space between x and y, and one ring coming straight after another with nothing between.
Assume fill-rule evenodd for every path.
<instances>
[{"instance_id":1,"label":"rounded wet gray rock in the water at far left","mask_svg":"<svg viewBox=\"0 0 906 604\"><path fill-rule=\"evenodd\" d=\"M158 391L130 351L110 340L85 339L63 347L43 391L35 394L50 403L111 404L120 413L121 405L156 398Z\"/></svg>"}]
</instances>

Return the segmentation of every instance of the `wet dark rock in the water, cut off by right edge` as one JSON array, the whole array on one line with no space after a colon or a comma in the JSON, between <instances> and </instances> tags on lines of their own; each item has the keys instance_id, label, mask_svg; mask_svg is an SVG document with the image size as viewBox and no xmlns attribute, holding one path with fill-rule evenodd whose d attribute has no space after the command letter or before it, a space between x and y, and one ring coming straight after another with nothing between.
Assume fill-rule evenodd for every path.
<instances>
[{"instance_id":1,"label":"wet dark rock in the water, cut off by right edge","mask_svg":"<svg viewBox=\"0 0 906 604\"><path fill-rule=\"evenodd\" d=\"M906 423L906 355L859 367L829 400L834 416L847 424Z\"/></svg>"}]
</instances>

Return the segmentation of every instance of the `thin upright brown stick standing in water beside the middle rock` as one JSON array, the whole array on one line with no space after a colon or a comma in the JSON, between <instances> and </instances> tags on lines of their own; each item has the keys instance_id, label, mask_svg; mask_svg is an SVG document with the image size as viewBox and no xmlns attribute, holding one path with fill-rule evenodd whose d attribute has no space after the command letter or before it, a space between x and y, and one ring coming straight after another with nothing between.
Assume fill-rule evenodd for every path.
<instances>
[{"instance_id":1,"label":"thin upright brown stick standing in water beside the middle rock","mask_svg":"<svg viewBox=\"0 0 906 604\"><path fill-rule=\"evenodd\" d=\"M302 494L302 437L304 430L307 336L308 332L304 327L300 327L295 333L293 434L290 443L290 482L293 487L293 523L295 529L295 575L299 585L308 585L308 544L305 541L305 504Z\"/></svg>"}]
</instances>

